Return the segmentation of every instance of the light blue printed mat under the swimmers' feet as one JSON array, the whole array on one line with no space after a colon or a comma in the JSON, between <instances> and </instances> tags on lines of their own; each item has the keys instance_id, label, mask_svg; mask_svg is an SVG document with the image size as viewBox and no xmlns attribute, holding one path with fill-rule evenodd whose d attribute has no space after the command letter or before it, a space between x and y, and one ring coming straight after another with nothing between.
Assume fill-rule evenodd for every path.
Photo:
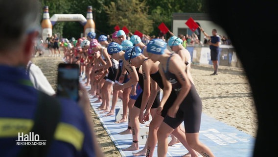
<instances>
[{"instance_id":1,"label":"light blue printed mat under the swimmers' feet","mask_svg":"<svg viewBox=\"0 0 278 157\"><path fill-rule=\"evenodd\" d=\"M94 100L92 100L94 101ZM144 148L145 138L147 135L141 135L147 133L148 128L146 124L140 124L139 140L144 140L143 143L139 143L139 150L137 151L122 151L121 149L127 148L132 144L131 134L118 134L121 131L127 129L128 123L116 124L116 112L121 109L122 102L118 101L116 104L115 115L104 116L106 113L97 111L100 103L91 103L95 113L99 117L103 127L108 132L112 141L115 143L122 157L133 157L132 153L139 152ZM170 138L170 137L169 137ZM201 129L199 139L202 143L207 145L215 157L252 157L253 148L255 145L255 138L243 131L239 131L232 126L229 126L223 122L220 122L214 118L209 117L207 114L202 113ZM175 144L168 147L167 157L181 157L188 153L186 148L181 144ZM157 147L154 152L154 157L157 157ZM199 156L201 157L201 156Z\"/></svg>"}]
</instances>

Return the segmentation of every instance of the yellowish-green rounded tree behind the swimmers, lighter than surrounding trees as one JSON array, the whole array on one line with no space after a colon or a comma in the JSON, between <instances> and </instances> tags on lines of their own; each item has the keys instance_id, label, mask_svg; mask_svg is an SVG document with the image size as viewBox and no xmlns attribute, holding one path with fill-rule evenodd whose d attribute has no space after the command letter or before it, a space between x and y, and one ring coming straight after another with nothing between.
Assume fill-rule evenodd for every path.
<instances>
[{"instance_id":1,"label":"yellowish-green rounded tree behind the swimmers, lighter than surrounding trees","mask_svg":"<svg viewBox=\"0 0 278 157\"><path fill-rule=\"evenodd\" d=\"M145 0L141 2L139 0L112 1L104 8L108 14L110 26L126 26L131 32L139 30L144 34L149 34L153 31L153 21L147 14L148 7Z\"/></svg>"}]
</instances>

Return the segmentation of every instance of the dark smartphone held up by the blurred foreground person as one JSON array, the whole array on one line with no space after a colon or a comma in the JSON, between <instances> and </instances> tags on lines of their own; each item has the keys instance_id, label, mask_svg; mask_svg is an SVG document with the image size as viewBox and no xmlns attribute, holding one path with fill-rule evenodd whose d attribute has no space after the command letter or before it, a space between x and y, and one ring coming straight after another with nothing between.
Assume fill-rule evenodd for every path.
<instances>
[{"instance_id":1,"label":"dark smartphone held up by the blurred foreground person","mask_svg":"<svg viewBox=\"0 0 278 157\"><path fill-rule=\"evenodd\" d=\"M57 79L57 96L79 100L79 66L78 64L59 63Z\"/></svg>"}]
</instances>

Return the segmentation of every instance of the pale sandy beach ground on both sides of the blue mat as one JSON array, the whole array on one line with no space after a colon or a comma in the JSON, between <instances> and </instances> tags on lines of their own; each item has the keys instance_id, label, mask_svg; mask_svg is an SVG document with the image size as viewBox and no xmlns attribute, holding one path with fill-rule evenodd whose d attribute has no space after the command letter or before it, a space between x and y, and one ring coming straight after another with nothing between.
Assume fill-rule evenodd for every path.
<instances>
[{"instance_id":1,"label":"pale sandy beach ground on both sides of the blue mat","mask_svg":"<svg viewBox=\"0 0 278 157\"><path fill-rule=\"evenodd\" d=\"M57 67L63 62L62 58L49 57L46 52L42 57L33 57L32 61L42 69L56 90ZM220 66L217 76L210 76L212 72L212 65L191 65L194 83L203 102L203 112L255 137L256 110L244 70ZM93 109L91 112L97 140L105 157L121 157Z\"/></svg>"}]
</instances>

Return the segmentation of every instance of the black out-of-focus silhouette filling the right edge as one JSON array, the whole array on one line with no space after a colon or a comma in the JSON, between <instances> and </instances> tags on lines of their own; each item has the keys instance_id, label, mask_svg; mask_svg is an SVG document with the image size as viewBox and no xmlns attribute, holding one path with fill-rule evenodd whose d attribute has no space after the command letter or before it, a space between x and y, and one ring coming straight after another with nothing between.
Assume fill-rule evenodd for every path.
<instances>
[{"instance_id":1,"label":"black out-of-focus silhouette filling the right edge","mask_svg":"<svg viewBox=\"0 0 278 157\"><path fill-rule=\"evenodd\" d=\"M258 116L253 157L273 156L278 141L277 78L273 77L277 72L277 4L275 0L205 3L211 20L230 36L251 85Z\"/></svg>"}]
</instances>

